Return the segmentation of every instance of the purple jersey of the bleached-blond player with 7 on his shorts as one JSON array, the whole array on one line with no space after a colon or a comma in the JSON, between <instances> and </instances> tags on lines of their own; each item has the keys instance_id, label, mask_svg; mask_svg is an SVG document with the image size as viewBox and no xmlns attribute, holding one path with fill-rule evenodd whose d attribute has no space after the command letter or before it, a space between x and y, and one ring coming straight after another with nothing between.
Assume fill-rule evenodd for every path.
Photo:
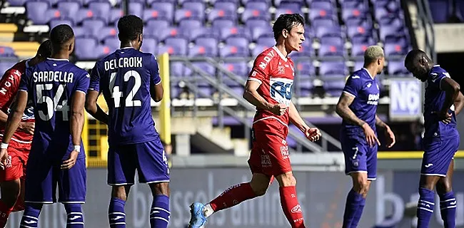
<instances>
[{"instance_id":1,"label":"purple jersey of the bleached-blond player with 7 on his shorts","mask_svg":"<svg viewBox=\"0 0 464 228\"><path fill-rule=\"evenodd\" d=\"M370 128L375 131L375 113L377 112L380 93L378 79L370 76L366 68L362 68L350 75L346 81L343 93L354 97L353 103L349 106L350 110L360 120L368 123ZM345 120L342 122L342 129L346 130L348 134L363 132L358 125L353 125L353 123L348 123Z\"/></svg>"}]
</instances>

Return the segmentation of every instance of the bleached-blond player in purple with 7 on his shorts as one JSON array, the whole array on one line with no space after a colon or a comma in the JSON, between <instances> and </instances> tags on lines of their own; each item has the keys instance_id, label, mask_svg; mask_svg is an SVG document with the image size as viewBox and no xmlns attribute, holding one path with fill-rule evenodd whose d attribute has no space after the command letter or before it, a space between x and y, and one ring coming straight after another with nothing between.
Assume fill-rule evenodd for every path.
<instances>
[{"instance_id":1,"label":"bleached-blond player in purple with 7 on his shorts","mask_svg":"<svg viewBox=\"0 0 464 228\"><path fill-rule=\"evenodd\" d=\"M375 125L387 137L387 147L395 144L395 135L375 114L380 90L378 78L383 70L383 49L370 46L364 53L364 67L353 72L346 81L336 112L343 118L340 138L345 155L345 173L353 179L346 198L343 228L358 226L370 182L377 177L377 149L380 142Z\"/></svg>"}]
</instances>

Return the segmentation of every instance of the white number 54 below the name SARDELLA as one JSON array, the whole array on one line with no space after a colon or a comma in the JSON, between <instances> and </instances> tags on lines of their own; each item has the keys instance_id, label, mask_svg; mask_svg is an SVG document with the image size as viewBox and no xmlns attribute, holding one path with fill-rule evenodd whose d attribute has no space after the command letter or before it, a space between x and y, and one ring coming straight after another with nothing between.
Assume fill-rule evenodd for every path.
<instances>
[{"instance_id":1,"label":"white number 54 below the name SARDELLA","mask_svg":"<svg viewBox=\"0 0 464 228\"><path fill-rule=\"evenodd\" d=\"M68 100L63 100L61 101L61 105L58 105L59 100L61 100L61 97L63 96L65 87L66 85L63 85L63 84L59 85L54 95L54 98L52 100L48 95L44 95L43 92L46 90L52 90L53 84L36 85L37 103L38 104L45 103L46 105L46 113L44 113L43 110L39 110L39 117L41 118L41 120L44 120L44 121L51 120L51 118L53 118L55 111L59 111L63 114L64 121L69 120L68 119L68 111L69 111Z\"/></svg>"}]
</instances>

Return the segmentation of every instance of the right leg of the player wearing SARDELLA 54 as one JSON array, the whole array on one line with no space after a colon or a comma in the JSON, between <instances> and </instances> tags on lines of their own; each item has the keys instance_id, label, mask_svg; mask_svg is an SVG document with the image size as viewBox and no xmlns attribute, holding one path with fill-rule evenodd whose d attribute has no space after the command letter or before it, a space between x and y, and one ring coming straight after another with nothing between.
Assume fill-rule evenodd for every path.
<instances>
[{"instance_id":1,"label":"right leg of the player wearing SARDELLA 54","mask_svg":"<svg viewBox=\"0 0 464 228\"><path fill-rule=\"evenodd\" d=\"M78 158L74 167L69 170L55 167L54 171L59 175L59 202L64 204L66 210L66 228L84 228L82 204L86 202L85 158Z\"/></svg>"}]
</instances>

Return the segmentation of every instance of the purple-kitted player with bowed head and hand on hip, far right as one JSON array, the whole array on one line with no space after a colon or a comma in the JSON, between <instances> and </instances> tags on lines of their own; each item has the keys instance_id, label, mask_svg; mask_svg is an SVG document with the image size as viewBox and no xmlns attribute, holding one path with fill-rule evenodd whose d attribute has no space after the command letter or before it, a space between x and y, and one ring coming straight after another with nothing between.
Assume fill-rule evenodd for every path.
<instances>
[{"instance_id":1,"label":"purple-kitted player with bowed head and hand on hip, far right","mask_svg":"<svg viewBox=\"0 0 464 228\"><path fill-rule=\"evenodd\" d=\"M428 227L435 206L435 187L440 197L440 212L445 228L454 228L456 198L451 183L453 157L459 146L456 115L463 109L464 96L460 92L459 84L450 78L450 74L439 65L434 65L423 51L410 51L405 58L405 67L415 78L427 83L418 228Z\"/></svg>"}]
</instances>

